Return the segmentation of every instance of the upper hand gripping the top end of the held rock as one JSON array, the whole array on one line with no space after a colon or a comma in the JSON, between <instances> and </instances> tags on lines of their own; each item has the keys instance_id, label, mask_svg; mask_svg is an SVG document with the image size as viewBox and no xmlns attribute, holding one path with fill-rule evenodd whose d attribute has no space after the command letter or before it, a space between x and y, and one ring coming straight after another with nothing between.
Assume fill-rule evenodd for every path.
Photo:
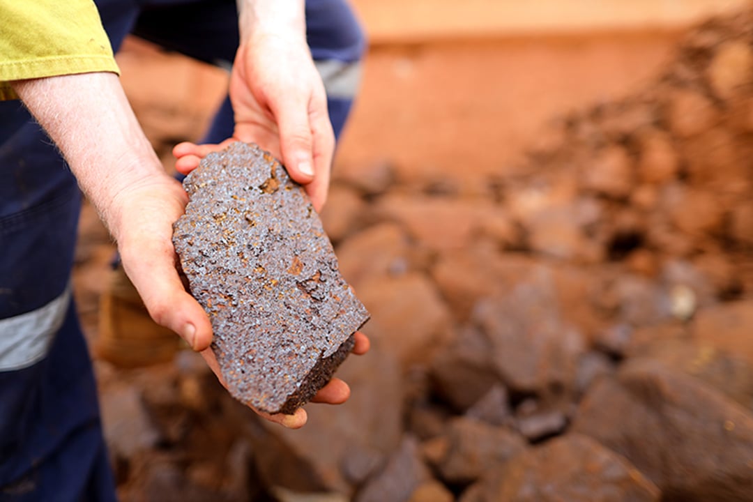
<instances>
[{"instance_id":1,"label":"upper hand gripping the top end of the held rock","mask_svg":"<svg viewBox=\"0 0 753 502\"><path fill-rule=\"evenodd\" d=\"M176 169L191 172L206 154L231 141L255 142L282 161L320 211L327 198L334 132L324 84L305 37L259 33L243 41L230 75L230 100L233 138L219 145L176 145Z\"/></svg>"}]
</instances>

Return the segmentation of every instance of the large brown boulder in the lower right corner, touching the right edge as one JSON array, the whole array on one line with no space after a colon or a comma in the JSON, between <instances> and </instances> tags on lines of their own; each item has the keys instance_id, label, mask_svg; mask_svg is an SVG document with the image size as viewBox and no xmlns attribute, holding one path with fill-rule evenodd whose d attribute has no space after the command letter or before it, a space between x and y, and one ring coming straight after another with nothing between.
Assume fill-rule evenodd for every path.
<instances>
[{"instance_id":1,"label":"large brown boulder in the lower right corner, touching the right edge","mask_svg":"<svg viewBox=\"0 0 753 502\"><path fill-rule=\"evenodd\" d=\"M573 430L628 458L662 500L750 500L751 414L657 361L636 358L594 385Z\"/></svg>"}]
</instances>

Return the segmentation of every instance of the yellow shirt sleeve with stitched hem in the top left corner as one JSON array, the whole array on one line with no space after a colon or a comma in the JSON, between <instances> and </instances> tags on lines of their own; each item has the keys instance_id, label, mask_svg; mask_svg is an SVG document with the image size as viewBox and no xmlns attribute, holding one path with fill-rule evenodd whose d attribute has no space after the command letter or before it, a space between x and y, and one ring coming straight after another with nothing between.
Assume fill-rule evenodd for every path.
<instances>
[{"instance_id":1,"label":"yellow shirt sleeve with stitched hem in the top left corner","mask_svg":"<svg viewBox=\"0 0 753 502\"><path fill-rule=\"evenodd\" d=\"M10 81L119 73L93 0L0 0L0 99Z\"/></svg>"}]
</instances>

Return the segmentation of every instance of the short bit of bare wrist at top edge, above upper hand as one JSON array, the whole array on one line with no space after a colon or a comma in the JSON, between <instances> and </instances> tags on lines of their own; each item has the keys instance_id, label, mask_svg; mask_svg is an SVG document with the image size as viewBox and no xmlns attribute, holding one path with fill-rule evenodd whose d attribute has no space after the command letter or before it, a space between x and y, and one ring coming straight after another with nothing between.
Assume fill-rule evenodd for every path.
<instances>
[{"instance_id":1,"label":"short bit of bare wrist at top edge, above upper hand","mask_svg":"<svg viewBox=\"0 0 753 502\"><path fill-rule=\"evenodd\" d=\"M241 44L253 36L295 35L306 40L303 0L237 0Z\"/></svg>"}]
</instances>

